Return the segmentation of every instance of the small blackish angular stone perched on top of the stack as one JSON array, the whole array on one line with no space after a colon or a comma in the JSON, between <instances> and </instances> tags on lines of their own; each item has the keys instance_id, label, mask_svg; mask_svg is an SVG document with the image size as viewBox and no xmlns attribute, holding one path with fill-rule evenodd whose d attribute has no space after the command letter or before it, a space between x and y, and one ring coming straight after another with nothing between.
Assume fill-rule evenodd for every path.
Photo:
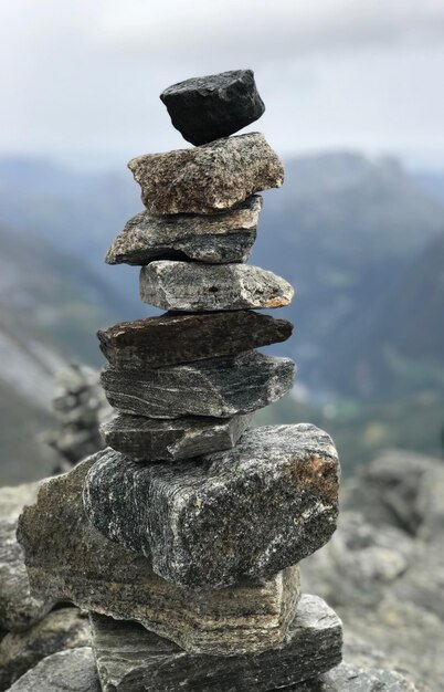
<instances>
[{"instance_id":1,"label":"small blackish angular stone perched on top of the stack","mask_svg":"<svg viewBox=\"0 0 444 692\"><path fill-rule=\"evenodd\" d=\"M252 70L235 70L179 82L160 98L182 137L200 145L229 137L265 112Z\"/></svg>"}]
</instances>

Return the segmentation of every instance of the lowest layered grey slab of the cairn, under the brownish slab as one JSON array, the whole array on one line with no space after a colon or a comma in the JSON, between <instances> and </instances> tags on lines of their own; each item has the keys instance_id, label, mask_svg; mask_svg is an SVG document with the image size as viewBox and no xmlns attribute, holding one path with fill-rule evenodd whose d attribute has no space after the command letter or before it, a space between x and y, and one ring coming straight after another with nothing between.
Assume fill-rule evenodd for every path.
<instances>
[{"instance_id":1,"label":"lowest layered grey slab of the cairn, under the brownish slab","mask_svg":"<svg viewBox=\"0 0 444 692\"><path fill-rule=\"evenodd\" d=\"M104 692L265 692L337 665L341 622L316 596L303 596L281 644L258 654L187 654L133 622L92 616L93 647Z\"/></svg>"}]
</instances>

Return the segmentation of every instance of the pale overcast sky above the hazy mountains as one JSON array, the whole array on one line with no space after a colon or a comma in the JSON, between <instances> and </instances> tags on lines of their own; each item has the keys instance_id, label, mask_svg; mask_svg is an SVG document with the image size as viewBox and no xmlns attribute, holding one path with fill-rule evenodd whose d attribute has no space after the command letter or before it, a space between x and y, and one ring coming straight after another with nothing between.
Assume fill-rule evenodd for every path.
<instances>
[{"instance_id":1,"label":"pale overcast sky above the hazy mountains","mask_svg":"<svg viewBox=\"0 0 444 692\"><path fill-rule=\"evenodd\" d=\"M80 167L188 146L158 98L253 67L288 153L444 169L444 0L2 0L0 154Z\"/></svg>"}]
</instances>

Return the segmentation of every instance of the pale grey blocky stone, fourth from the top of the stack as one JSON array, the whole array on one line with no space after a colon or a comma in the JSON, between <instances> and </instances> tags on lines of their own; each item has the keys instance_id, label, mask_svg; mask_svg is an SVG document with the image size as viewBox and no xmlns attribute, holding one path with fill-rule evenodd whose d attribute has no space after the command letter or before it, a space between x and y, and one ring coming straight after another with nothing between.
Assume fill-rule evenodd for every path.
<instances>
[{"instance_id":1,"label":"pale grey blocky stone, fourth from the top of the stack","mask_svg":"<svg viewBox=\"0 0 444 692\"><path fill-rule=\"evenodd\" d=\"M205 312L289 305L293 286L251 264L159 260L140 270L140 298L161 310Z\"/></svg>"}]
</instances>

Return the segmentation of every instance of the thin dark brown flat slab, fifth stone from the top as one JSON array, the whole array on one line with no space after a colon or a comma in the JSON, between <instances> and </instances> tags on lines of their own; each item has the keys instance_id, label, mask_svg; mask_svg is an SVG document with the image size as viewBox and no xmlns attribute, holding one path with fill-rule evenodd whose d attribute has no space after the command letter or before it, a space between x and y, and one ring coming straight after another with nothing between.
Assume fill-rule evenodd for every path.
<instances>
[{"instance_id":1,"label":"thin dark brown flat slab, fifth stone from the top","mask_svg":"<svg viewBox=\"0 0 444 692\"><path fill-rule=\"evenodd\" d=\"M97 333L101 349L116 367L157 368L192 363L284 342L293 325L253 311L165 314L123 322ZM97 451L97 450L95 450Z\"/></svg>"}]
</instances>

